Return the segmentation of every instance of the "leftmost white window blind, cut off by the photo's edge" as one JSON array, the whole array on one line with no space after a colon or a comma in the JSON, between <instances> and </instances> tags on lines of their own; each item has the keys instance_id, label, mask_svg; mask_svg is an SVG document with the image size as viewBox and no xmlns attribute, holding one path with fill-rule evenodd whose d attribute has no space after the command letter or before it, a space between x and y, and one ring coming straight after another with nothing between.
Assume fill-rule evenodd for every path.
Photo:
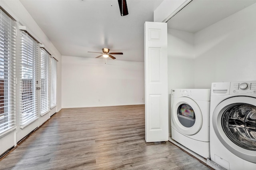
<instances>
[{"instance_id":1,"label":"leftmost white window blind, cut off by the photo's edge","mask_svg":"<svg viewBox=\"0 0 256 170\"><path fill-rule=\"evenodd\" d=\"M0 9L0 134L15 127L16 26Z\"/></svg>"}]
</instances>

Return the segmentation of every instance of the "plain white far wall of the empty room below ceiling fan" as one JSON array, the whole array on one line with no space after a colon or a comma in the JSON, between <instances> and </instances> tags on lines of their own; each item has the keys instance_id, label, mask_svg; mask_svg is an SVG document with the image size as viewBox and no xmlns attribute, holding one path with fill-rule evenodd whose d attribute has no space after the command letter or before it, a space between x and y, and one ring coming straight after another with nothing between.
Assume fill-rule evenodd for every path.
<instances>
[{"instance_id":1,"label":"plain white far wall of the empty room below ceiling fan","mask_svg":"<svg viewBox=\"0 0 256 170\"><path fill-rule=\"evenodd\" d=\"M62 108L144 104L144 62L62 56Z\"/></svg>"}]
</instances>

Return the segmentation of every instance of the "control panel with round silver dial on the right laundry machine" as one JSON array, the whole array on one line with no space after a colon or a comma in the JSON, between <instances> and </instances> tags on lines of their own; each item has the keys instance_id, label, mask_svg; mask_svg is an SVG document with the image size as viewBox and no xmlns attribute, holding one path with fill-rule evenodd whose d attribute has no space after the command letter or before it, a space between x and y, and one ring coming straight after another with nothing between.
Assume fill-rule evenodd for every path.
<instances>
[{"instance_id":1,"label":"control panel with round silver dial on the right laundry machine","mask_svg":"<svg viewBox=\"0 0 256 170\"><path fill-rule=\"evenodd\" d=\"M231 82L230 94L255 94L256 95L256 81Z\"/></svg>"}]
</instances>

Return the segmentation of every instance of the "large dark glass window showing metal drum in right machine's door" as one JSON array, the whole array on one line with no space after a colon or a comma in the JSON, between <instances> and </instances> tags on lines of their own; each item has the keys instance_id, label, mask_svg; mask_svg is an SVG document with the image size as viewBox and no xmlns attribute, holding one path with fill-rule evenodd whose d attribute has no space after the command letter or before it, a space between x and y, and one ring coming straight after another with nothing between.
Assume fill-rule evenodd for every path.
<instances>
[{"instance_id":1,"label":"large dark glass window showing metal drum in right machine's door","mask_svg":"<svg viewBox=\"0 0 256 170\"><path fill-rule=\"evenodd\" d=\"M229 107L222 115L222 128L236 145L256 150L256 106L240 103Z\"/></svg>"}]
</instances>

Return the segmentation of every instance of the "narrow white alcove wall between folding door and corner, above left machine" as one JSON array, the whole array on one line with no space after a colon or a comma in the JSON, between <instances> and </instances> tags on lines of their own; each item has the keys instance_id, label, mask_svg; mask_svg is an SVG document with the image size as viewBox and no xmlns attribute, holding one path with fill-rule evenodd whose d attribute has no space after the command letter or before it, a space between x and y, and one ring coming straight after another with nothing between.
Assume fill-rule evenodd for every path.
<instances>
[{"instance_id":1,"label":"narrow white alcove wall between folding door and corner, above left machine","mask_svg":"<svg viewBox=\"0 0 256 170\"><path fill-rule=\"evenodd\" d=\"M168 29L168 92L194 88L194 34Z\"/></svg>"}]
</instances>

